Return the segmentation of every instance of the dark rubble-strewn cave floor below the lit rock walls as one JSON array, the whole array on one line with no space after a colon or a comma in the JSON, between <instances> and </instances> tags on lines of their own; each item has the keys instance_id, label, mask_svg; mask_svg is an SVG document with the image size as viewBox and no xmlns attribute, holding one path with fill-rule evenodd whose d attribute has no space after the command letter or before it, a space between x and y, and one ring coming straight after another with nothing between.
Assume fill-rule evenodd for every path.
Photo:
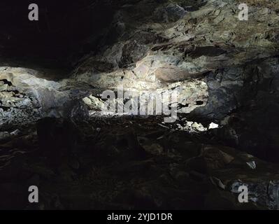
<instances>
[{"instance_id":1,"label":"dark rubble-strewn cave floor below the lit rock walls","mask_svg":"<svg viewBox=\"0 0 279 224\"><path fill-rule=\"evenodd\" d=\"M51 157L39 149L36 124L22 127L0 144L0 208L277 209L278 165L173 125L96 116L78 123L71 153L48 144L57 151ZM238 202L243 184L253 202ZM38 186L36 205L28 203L29 186Z\"/></svg>"}]
</instances>

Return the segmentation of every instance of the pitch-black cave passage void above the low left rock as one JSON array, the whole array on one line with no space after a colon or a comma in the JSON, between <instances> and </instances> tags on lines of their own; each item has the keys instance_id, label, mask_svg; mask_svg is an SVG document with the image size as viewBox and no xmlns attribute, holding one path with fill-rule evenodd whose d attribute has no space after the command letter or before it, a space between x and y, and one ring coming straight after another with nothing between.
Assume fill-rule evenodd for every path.
<instances>
[{"instance_id":1,"label":"pitch-black cave passage void above the low left rock","mask_svg":"<svg viewBox=\"0 0 279 224\"><path fill-rule=\"evenodd\" d=\"M1 2L2 63L73 69L80 57L99 50L115 13L115 6L103 1L32 3L40 6L38 21L28 20L29 1Z\"/></svg>"}]
</instances>

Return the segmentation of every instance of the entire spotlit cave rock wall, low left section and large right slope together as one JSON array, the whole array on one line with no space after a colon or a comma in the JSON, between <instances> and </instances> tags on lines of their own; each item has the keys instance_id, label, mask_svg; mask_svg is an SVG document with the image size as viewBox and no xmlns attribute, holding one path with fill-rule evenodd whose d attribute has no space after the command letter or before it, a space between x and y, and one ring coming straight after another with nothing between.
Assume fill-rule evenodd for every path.
<instances>
[{"instance_id":1,"label":"entire spotlit cave rock wall, low left section and large right slope together","mask_svg":"<svg viewBox=\"0 0 279 224\"><path fill-rule=\"evenodd\" d=\"M110 26L100 31L98 50L80 59L71 78L50 81L36 70L1 68L0 126L44 116L86 118L83 102L101 111L103 91L119 87L138 97L133 104L141 98L153 104L154 94L178 92L166 103L178 113L222 125L224 144L274 158L279 6L249 1L249 20L241 21L238 4L119 1ZM74 112L76 101L80 106Z\"/></svg>"}]
</instances>

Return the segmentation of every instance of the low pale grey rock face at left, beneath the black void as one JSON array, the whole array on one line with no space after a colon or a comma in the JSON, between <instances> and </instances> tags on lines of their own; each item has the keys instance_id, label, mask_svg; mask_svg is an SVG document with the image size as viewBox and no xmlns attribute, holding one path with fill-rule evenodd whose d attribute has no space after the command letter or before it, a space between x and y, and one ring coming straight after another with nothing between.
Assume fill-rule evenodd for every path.
<instances>
[{"instance_id":1,"label":"low pale grey rock face at left, beneath the black void","mask_svg":"<svg viewBox=\"0 0 279 224\"><path fill-rule=\"evenodd\" d=\"M60 90L61 83L46 80L41 75L32 69L0 68L2 129L48 116L87 119L88 111L80 90Z\"/></svg>"}]
</instances>

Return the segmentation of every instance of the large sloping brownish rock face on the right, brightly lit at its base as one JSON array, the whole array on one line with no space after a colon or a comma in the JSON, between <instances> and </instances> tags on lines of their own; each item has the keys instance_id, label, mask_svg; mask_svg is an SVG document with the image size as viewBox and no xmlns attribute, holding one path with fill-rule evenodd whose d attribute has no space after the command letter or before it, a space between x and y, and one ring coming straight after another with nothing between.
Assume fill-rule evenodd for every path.
<instances>
[{"instance_id":1,"label":"large sloping brownish rock face on the right, brightly lit at its base","mask_svg":"<svg viewBox=\"0 0 279 224\"><path fill-rule=\"evenodd\" d=\"M249 1L249 20L241 21L239 3L209 0L193 7L180 1L139 1L122 6L110 27L118 31L113 43L85 57L73 77L135 92L176 86L178 112L215 120L224 127L224 144L278 160L272 132L278 127L279 6L277 1ZM107 68L100 71L100 63Z\"/></svg>"}]
</instances>

